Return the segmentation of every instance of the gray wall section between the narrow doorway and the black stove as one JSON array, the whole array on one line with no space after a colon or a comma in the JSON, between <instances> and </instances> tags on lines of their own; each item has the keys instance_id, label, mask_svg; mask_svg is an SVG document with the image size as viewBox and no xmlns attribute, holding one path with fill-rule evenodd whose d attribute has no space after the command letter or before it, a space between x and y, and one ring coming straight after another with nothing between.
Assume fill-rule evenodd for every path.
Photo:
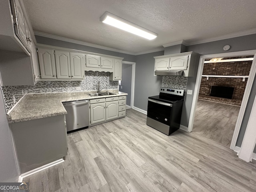
<instances>
[{"instance_id":1,"label":"gray wall section between the narrow doorway and the black stove","mask_svg":"<svg viewBox=\"0 0 256 192\"><path fill-rule=\"evenodd\" d=\"M162 76L154 76L154 56L163 55L164 51L136 56L134 106L142 110L148 108L148 97L159 94Z\"/></svg>"}]
</instances>

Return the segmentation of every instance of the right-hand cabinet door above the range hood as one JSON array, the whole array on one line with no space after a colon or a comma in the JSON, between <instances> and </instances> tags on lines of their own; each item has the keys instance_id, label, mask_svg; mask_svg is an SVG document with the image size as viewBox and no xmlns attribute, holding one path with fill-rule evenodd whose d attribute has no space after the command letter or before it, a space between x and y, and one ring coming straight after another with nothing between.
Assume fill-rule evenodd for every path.
<instances>
[{"instance_id":1,"label":"right-hand cabinet door above the range hood","mask_svg":"<svg viewBox=\"0 0 256 192\"><path fill-rule=\"evenodd\" d=\"M188 66L188 57L175 56L170 58L170 70L186 70Z\"/></svg>"}]
</instances>

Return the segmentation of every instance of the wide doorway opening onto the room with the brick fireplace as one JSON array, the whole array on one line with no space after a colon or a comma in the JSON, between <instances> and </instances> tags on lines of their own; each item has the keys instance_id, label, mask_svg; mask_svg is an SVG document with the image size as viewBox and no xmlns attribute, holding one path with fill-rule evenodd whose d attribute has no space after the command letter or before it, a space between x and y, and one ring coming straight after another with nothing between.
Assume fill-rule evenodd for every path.
<instances>
[{"instance_id":1,"label":"wide doorway opening onto the room with the brick fireplace","mask_svg":"<svg viewBox=\"0 0 256 192\"><path fill-rule=\"evenodd\" d=\"M194 133L230 146L253 57L204 61Z\"/></svg>"}]
</instances>

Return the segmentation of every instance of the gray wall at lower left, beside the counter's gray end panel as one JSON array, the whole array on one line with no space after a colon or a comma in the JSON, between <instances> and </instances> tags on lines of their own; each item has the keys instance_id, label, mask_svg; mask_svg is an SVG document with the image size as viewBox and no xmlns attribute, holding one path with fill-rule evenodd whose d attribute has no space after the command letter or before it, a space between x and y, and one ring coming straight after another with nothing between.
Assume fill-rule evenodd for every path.
<instances>
[{"instance_id":1,"label":"gray wall at lower left, beside the counter's gray end panel","mask_svg":"<svg viewBox=\"0 0 256 192\"><path fill-rule=\"evenodd\" d=\"M18 182L20 176L10 129L6 119L4 100L0 91L0 182Z\"/></svg>"}]
</instances>

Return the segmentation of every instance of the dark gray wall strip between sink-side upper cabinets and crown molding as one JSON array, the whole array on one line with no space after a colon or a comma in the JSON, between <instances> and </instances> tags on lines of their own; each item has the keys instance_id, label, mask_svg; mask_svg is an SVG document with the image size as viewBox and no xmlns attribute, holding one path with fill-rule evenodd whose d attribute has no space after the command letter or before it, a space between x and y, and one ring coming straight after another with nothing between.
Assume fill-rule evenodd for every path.
<instances>
[{"instance_id":1,"label":"dark gray wall strip between sink-side upper cabinets and crown molding","mask_svg":"<svg viewBox=\"0 0 256 192\"><path fill-rule=\"evenodd\" d=\"M134 56L134 55L118 53L118 52L114 52L114 51L89 47L89 46L85 46L85 45L65 42L65 41L51 39L51 38L42 37L42 36L36 36L36 41L37 41L37 43L40 43L40 44L46 44L46 45L51 45L51 46L57 46L57 47L63 47L63 48L76 49L76 50L88 51L88 52L93 52L93 53L123 57L124 61L135 62L135 58L136 58L136 56Z\"/></svg>"}]
</instances>

